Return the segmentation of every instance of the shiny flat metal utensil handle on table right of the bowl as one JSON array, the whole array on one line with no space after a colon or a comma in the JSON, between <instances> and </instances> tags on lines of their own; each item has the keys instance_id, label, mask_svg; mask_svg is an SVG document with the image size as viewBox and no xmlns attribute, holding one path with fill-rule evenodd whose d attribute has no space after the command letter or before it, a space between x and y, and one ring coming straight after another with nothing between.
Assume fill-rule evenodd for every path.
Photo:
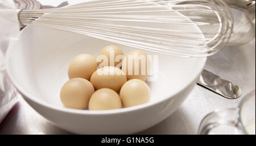
<instances>
[{"instance_id":1,"label":"shiny flat metal utensil handle on table right of the bowl","mask_svg":"<svg viewBox=\"0 0 256 146\"><path fill-rule=\"evenodd\" d=\"M227 81L208 70L203 70L197 84L214 91L228 99L236 99L241 97L241 89L232 82Z\"/></svg>"}]
</instances>

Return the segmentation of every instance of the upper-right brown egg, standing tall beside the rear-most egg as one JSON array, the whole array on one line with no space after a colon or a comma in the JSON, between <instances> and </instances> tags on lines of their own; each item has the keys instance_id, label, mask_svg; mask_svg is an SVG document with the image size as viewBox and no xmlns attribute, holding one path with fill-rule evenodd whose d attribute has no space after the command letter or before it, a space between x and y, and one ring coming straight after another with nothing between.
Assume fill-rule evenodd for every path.
<instances>
[{"instance_id":1,"label":"upper-right brown egg, standing tall beside the rear-most egg","mask_svg":"<svg viewBox=\"0 0 256 146\"><path fill-rule=\"evenodd\" d=\"M147 54L141 50L127 53L122 63L122 70L127 74L127 80L140 79L146 81L150 73L151 62Z\"/></svg>"}]
</instances>

